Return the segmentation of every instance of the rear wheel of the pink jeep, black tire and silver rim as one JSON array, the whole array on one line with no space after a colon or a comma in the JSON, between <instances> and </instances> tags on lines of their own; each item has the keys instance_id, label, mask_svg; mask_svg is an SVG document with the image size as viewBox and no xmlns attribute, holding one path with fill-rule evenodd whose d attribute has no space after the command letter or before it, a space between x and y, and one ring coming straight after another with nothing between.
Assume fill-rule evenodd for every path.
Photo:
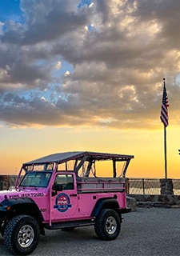
<instances>
[{"instance_id":1,"label":"rear wheel of the pink jeep, black tire and silver rim","mask_svg":"<svg viewBox=\"0 0 180 256\"><path fill-rule=\"evenodd\" d=\"M121 230L121 221L115 210L103 209L94 225L95 233L102 240L114 240Z\"/></svg>"}]
</instances>

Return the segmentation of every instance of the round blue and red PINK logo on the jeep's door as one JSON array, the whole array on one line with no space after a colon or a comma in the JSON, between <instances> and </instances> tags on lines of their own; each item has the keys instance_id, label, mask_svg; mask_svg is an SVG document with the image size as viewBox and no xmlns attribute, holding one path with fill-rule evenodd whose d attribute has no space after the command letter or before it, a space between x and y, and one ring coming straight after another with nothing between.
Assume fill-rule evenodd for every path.
<instances>
[{"instance_id":1,"label":"round blue and red PINK logo on the jeep's door","mask_svg":"<svg viewBox=\"0 0 180 256\"><path fill-rule=\"evenodd\" d=\"M70 198L67 194L58 194L55 200L54 209L57 209L61 213L66 212L72 205L70 204Z\"/></svg>"}]
</instances>

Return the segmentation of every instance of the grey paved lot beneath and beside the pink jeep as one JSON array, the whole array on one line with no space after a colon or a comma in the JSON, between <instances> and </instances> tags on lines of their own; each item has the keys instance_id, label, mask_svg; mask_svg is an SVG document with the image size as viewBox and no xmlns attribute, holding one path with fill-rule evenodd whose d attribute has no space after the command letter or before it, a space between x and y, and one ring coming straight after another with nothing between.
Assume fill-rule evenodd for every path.
<instances>
[{"instance_id":1,"label":"grey paved lot beneath and beside the pink jeep","mask_svg":"<svg viewBox=\"0 0 180 256\"><path fill-rule=\"evenodd\" d=\"M177 256L180 254L180 209L138 208L123 215L119 237L99 240L94 227L71 232L46 230L32 256ZM0 238L0 255L10 255Z\"/></svg>"}]
</instances>

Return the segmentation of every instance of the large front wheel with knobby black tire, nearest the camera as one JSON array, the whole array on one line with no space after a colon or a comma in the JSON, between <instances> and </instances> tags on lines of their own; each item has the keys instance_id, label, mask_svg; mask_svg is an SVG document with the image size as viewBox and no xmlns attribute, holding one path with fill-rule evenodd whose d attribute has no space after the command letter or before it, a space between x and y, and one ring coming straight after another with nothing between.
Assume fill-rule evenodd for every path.
<instances>
[{"instance_id":1,"label":"large front wheel with knobby black tire, nearest the camera","mask_svg":"<svg viewBox=\"0 0 180 256\"><path fill-rule=\"evenodd\" d=\"M39 234L38 222L34 218L18 215L6 226L4 233L6 248L11 254L31 254L38 245Z\"/></svg>"}]
</instances>

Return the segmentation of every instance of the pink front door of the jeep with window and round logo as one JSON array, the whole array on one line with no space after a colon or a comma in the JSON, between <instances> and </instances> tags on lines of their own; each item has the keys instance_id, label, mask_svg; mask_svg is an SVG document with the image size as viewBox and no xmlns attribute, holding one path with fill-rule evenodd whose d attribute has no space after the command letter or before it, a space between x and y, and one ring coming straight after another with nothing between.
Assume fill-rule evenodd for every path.
<instances>
[{"instance_id":1,"label":"pink front door of the jeep with window and round logo","mask_svg":"<svg viewBox=\"0 0 180 256\"><path fill-rule=\"evenodd\" d=\"M75 184L74 174L56 174L53 185L54 195L52 194L51 199L52 221L74 217L78 209L78 194Z\"/></svg>"}]
</instances>

